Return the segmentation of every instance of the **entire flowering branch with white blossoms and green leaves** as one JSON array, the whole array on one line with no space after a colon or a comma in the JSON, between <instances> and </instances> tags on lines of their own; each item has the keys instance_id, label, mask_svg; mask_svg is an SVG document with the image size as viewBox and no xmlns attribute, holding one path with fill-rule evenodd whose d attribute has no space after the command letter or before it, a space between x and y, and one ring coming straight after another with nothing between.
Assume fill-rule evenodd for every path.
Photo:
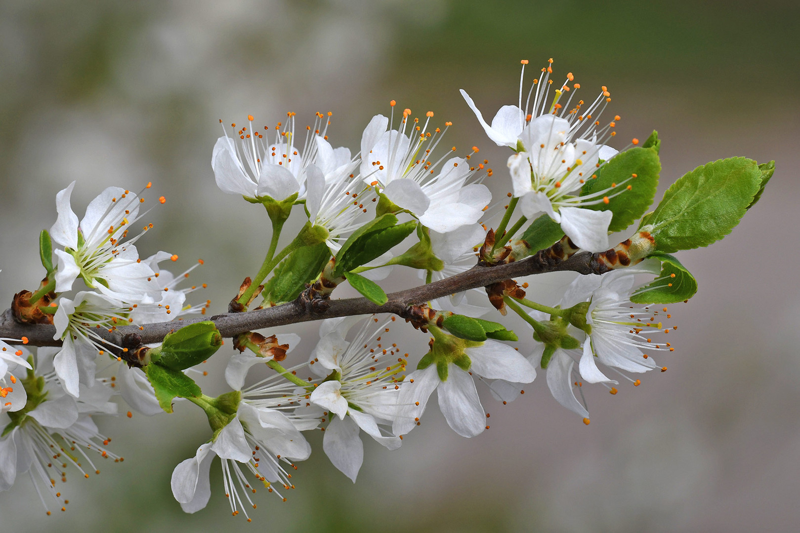
<instances>
[{"instance_id":1,"label":"entire flowering branch with white blossoms and green leaves","mask_svg":"<svg viewBox=\"0 0 800 533\"><path fill-rule=\"evenodd\" d=\"M666 338L676 327L665 323L663 304L697 288L670 254L730 232L774 165L716 161L645 214L658 185L658 135L618 152L606 143L620 118L600 121L605 86L587 104L575 97L573 74L554 85L550 60L526 93L526 64L518 104L504 105L491 125L462 90L490 141L512 150L507 177L475 161L477 146L458 156L443 149L450 122L437 127L434 113L417 118L410 109L396 116L395 101L389 117L375 115L363 129L355 155L330 144L331 113L316 113L304 138L295 113L263 130L252 116L231 124L232 134L223 127L211 157L216 184L263 205L273 229L261 267L226 316L174 323L205 314L210 302L187 304L196 287L179 288L198 265L174 276L160 264L177 255L139 257L135 244L153 227L142 225L150 184L139 193L109 187L80 221L75 184L59 192L56 221L40 238L45 279L36 292L19 292L11 309L31 332L50 328L59 345L30 353L27 337L0 339L0 491L28 472L48 514L53 502L65 510L58 479L66 482L68 470L89 477L98 458L122 460L94 420L122 411L117 399L152 416L182 398L206 413L210 434L175 467L175 499L186 512L206 507L218 457L231 513L250 521L256 487L284 501L294 489L297 463L312 451L306 432L324 432L322 451L355 482L362 438L397 449L434 391L450 428L474 437L489 428L487 401L514 400L542 372L554 399L589 424L584 383L616 395L620 378L638 386L642 372L666 371L654 353L673 351ZM711 196L728 176L749 181L724 205L685 200ZM508 205L492 204L487 183L513 190ZM302 229L278 249L290 217ZM640 218L610 247L610 229ZM387 295L376 281L400 267L425 284ZM580 272L556 298L538 292L541 278L504 279L554 270ZM364 297L333 300L345 283ZM503 318L509 309L517 332ZM266 327L264 316L270 325L325 320L311 348L292 332L251 331ZM228 392L206 396L192 376L208 373L198 364L218 352L223 331L234 348ZM144 332L158 342L142 344Z\"/></svg>"}]
</instances>

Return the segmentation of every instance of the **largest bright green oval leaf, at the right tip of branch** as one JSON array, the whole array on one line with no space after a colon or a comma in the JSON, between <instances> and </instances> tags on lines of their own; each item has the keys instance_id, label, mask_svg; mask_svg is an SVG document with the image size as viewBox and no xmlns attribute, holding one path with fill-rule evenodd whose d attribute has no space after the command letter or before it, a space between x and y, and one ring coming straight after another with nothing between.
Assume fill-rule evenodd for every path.
<instances>
[{"instance_id":1,"label":"largest bright green oval leaf, at the right tip of branch","mask_svg":"<svg viewBox=\"0 0 800 533\"><path fill-rule=\"evenodd\" d=\"M650 232L660 252L710 245L734 229L761 185L762 170L752 159L730 157L698 166L666 190L640 229Z\"/></svg>"}]
</instances>

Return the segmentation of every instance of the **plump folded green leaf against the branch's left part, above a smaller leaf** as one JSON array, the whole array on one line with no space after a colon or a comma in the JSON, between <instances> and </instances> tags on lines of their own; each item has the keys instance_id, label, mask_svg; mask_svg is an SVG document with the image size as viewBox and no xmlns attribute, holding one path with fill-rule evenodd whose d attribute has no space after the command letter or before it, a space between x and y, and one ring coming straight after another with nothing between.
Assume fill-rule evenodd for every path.
<instances>
[{"instance_id":1,"label":"plump folded green leaf against the branch's left part, above a smaller leaf","mask_svg":"<svg viewBox=\"0 0 800 533\"><path fill-rule=\"evenodd\" d=\"M220 346L222 335L214 322L205 320L168 333L160 347L150 350L150 360L164 368L183 370L213 356Z\"/></svg>"}]
</instances>

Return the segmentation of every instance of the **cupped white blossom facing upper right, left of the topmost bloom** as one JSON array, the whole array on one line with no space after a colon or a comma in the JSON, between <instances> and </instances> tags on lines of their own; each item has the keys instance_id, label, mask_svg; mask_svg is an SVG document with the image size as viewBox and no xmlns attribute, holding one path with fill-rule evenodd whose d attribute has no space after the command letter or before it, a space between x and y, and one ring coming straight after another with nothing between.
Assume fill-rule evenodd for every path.
<instances>
[{"instance_id":1,"label":"cupped white blossom facing upper right, left of the topmost bloom","mask_svg":"<svg viewBox=\"0 0 800 533\"><path fill-rule=\"evenodd\" d=\"M406 109L398 129L383 115L373 117L362 135L361 176L423 225L447 233L477 222L491 193L485 185L466 183L476 173L467 159L433 158L443 134L438 128L426 131L433 115L429 111L425 124L417 126Z\"/></svg>"}]
</instances>

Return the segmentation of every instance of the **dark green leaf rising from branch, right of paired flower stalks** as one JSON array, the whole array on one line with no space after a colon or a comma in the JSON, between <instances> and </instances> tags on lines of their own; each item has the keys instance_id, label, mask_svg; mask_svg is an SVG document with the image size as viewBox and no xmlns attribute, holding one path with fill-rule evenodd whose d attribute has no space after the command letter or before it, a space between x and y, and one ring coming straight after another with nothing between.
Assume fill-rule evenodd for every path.
<instances>
[{"instance_id":1,"label":"dark green leaf rising from branch, right of paired flower stalks","mask_svg":"<svg viewBox=\"0 0 800 533\"><path fill-rule=\"evenodd\" d=\"M294 250L275 267L273 276L264 286L264 300L271 304L294 300L306 288L306 283L322 272L329 259L330 251L324 242Z\"/></svg>"}]
</instances>

